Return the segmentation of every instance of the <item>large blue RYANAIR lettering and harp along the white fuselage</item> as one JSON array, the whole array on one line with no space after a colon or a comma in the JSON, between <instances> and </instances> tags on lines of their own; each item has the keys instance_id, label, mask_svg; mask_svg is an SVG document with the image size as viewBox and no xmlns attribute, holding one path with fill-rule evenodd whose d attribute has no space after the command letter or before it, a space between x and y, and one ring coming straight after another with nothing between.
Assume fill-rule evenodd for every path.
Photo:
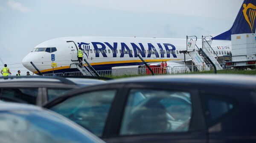
<instances>
[{"instance_id":1,"label":"large blue RYANAIR lettering and harp along the white fuselage","mask_svg":"<svg viewBox=\"0 0 256 143\"><path fill-rule=\"evenodd\" d=\"M83 52L85 53L85 55L87 56L87 59L88 59L88 56L89 56L89 53L90 51L92 51L90 49L90 43L85 43L85 42L78 42L77 43L79 45L79 47L82 48ZM117 46L118 46L118 43L117 42L113 42L112 43L109 43L109 42L91 42L91 44L93 45L93 48L94 48L94 53L95 53L95 57L99 57L100 54L102 54L103 57L108 57L107 56L107 52L106 52L106 48L109 48L110 50L112 50L112 57L117 57ZM138 44L135 44L135 43L130 43L131 45L127 45L125 44L124 42L121 42L120 45L121 45L121 53L120 53L120 57L124 57L126 54L127 56L129 56L130 58L132 57L135 57L137 58L138 54L140 54L143 58L147 57L147 58L151 58L151 55L155 55L156 58L163 58L164 55L165 55L165 51L163 49L163 46L166 50L166 57L167 58L170 58L170 55L172 54L172 56L174 58L177 58L176 54L175 54L175 46L172 45L172 44L169 44L169 43L163 43L163 46L160 44L160 43L157 43L157 46L159 48L159 51L156 50L156 48L154 47L154 45L152 45L151 43L147 43L147 46L148 46L148 51L149 53L146 55L146 50L143 46L142 43L138 43ZM131 49L129 48L132 48L133 49L133 52L131 51ZM134 53L134 56L133 56L133 53Z\"/></svg>"}]
</instances>

